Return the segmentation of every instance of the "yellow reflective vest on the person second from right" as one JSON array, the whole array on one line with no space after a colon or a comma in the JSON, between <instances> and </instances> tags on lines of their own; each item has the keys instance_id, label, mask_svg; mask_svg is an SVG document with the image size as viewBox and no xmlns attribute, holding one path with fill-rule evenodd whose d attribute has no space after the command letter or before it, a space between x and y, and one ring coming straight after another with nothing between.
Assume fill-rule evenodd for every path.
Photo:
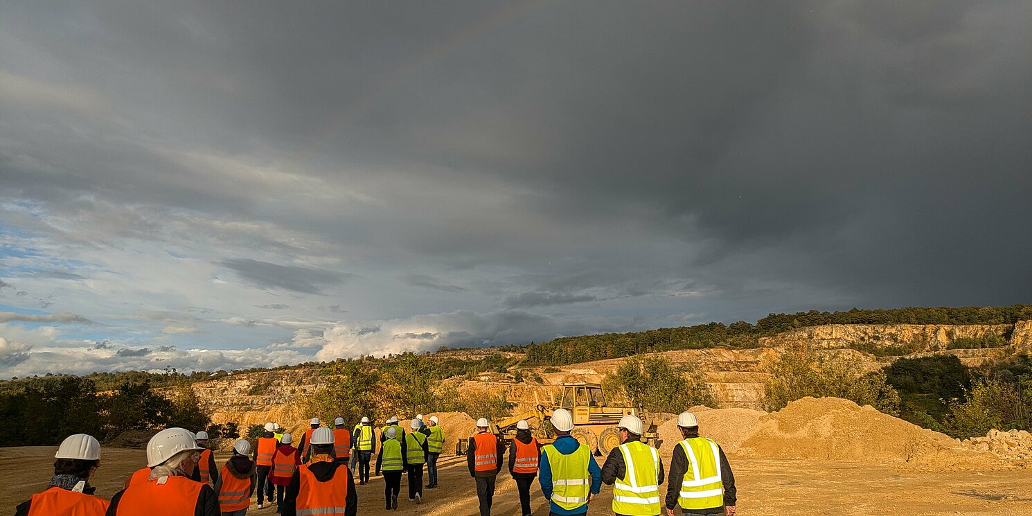
<instances>
[{"instance_id":1,"label":"yellow reflective vest on the person second from right","mask_svg":"<svg viewBox=\"0 0 1032 516\"><path fill-rule=\"evenodd\" d=\"M659 454L641 441L620 445L624 480L613 483L613 512L627 516L659 514Z\"/></svg>"}]
</instances>

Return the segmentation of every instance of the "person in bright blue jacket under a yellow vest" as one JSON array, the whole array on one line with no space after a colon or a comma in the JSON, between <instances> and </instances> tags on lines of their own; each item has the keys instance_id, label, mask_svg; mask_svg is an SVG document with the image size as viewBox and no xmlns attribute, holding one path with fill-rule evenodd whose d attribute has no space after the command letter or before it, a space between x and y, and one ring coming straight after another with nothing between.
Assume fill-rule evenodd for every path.
<instances>
[{"instance_id":1,"label":"person in bright blue jacket under a yellow vest","mask_svg":"<svg viewBox=\"0 0 1032 516\"><path fill-rule=\"evenodd\" d=\"M538 482L550 503L552 514L586 514L587 503L602 488L602 471L591 456L591 448L570 436L574 417L566 409L552 413L555 441L542 448Z\"/></svg>"}]
</instances>

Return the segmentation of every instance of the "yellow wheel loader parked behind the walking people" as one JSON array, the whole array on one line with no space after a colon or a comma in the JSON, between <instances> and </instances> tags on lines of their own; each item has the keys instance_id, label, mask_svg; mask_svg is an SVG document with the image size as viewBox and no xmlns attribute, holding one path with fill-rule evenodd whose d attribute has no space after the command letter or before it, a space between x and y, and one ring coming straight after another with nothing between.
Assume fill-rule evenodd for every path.
<instances>
[{"instance_id":1,"label":"yellow wheel loader parked behind the walking people","mask_svg":"<svg viewBox=\"0 0 1032 516\"><path fill-rule=\"evenodd\" d=\"M535 401L538 395L535 393ZM620 433L616 424L625 415L638 416L642 420L644 434L642 442L659 448L663 444L656 432L656 424L645 413L643 408L610 407L606 404L606 394L601 384L568 383L562 384L562 394L558 400L552 399L549 406L537 402L534 410L512 417L492 421L488 431L497 434L508 445L516 437L516 423L526 420L535 438L543 445L555 441L550 418L555 409L566 409L574 416L574 429L570 434L586 444L595 455L608 455L609 451L620 446ZM465 454L467 442L459 440L455 445L455 453Z\"/></svg>"}]
</instances>

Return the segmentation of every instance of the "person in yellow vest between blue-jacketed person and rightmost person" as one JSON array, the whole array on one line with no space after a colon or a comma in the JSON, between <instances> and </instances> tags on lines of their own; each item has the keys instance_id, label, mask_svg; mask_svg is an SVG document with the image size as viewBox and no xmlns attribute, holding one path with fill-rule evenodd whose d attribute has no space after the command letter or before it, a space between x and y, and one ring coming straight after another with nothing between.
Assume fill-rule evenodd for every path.
<instances>
[{"instance_id":1,"label":"person in yellow vest between blue-jacketed person and rightmost person","mask_svg":"<svg viewBox=\"0 0 1032 516\"><path fill-rule=\"evenodd\" d=\"M642 443L642 420L623 416L616 427L620 446L613 448L602 465L602 482L613 486L613 513L617 516L659 516L663 504L663 461L655 448Z\"/></svg>"}]
</instances>

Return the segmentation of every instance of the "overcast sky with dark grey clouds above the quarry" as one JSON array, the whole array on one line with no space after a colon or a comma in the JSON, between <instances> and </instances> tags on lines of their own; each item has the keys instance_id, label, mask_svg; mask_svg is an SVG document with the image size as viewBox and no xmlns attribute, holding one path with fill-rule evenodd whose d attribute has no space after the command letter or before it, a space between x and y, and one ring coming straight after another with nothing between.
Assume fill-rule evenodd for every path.
<instances>
[{"instance_id":1,"label":"overcast sky with dark grey clouds above the quarry","mask_svg":"<svg viewBox=\"0 0 1032 516\"><path fill-rule=\"evenodd\" d=\"M5 2L0 378L1032 302L1032 2Z\"/></svg>"}]
</instances>

